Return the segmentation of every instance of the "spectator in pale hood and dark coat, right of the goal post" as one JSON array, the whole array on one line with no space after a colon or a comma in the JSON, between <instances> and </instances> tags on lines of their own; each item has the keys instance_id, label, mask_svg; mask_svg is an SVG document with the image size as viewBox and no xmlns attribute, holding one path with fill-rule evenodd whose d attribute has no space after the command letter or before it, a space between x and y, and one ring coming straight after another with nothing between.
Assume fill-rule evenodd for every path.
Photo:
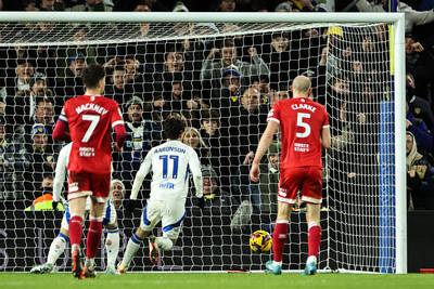
<instances>
[{"instance_id":1,"label":"spectator in pale hood and dark coat, right of the goal post","mask_svg":"<svg viewBox=\"0 0 434 289\"><path fill-rule=\"evenodd\" d=\"M407 194L409 210L432 210L434 208L434 168L426 157L418 152L416 137L409 131L406 135Z\"/></svg>"}]
</instances>

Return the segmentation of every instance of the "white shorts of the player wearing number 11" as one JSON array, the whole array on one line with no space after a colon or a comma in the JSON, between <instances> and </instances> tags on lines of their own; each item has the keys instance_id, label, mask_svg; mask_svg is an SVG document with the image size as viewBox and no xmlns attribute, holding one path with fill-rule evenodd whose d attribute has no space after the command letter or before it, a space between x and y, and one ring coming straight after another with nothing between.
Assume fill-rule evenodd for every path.
<instances>
[{"instance_id":1,"label":"white shorts of the player wearing number 11","mask_svg":"<svg viewBox=\"0 0 434 289\"><path fill-rule=\"evenodd\" d=\"M182 200L149 199L143 208L140 228L151 232L162 221L163 236L169 239L177 239L186 214L186 206Z\"/></svg>"}]
</instances>

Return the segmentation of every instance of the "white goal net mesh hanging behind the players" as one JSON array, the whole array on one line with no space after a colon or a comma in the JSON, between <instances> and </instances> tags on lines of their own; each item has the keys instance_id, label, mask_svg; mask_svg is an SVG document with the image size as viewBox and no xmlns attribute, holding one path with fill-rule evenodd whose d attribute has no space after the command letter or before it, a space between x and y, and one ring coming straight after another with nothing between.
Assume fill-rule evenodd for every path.
<instances>
[{"instance_id":1,"label":"white goal net mesh hanging behind the players","mask_svg":"<svg viewBox=\"0 0 434 289\"><path fill-rule=\"evenodd\" d=\"M126 121L126 147L113 154L125 197L144 156L161 143L162 120L169 114L186 119L183 141L195 147L207 172L205 210L188 198L178 246L157 266L140 250L131 270L264 268L270 253L252 252L248 236L273 229L279 139L260 165L259 184L248 181L252 152L268 110L291 96L292 79L303 74L312 80L315 100L327 106L332 131L319 267L379 272L381 102L393 97L388 29L384 24L1 24L0 248L8 258L0 270L26 271L44 262L62 213L38 211L33 202L51 191L63 145L51 139L54 121L66 100L84 93L82 69L97 62L107 70L105 96L119 103ZM149 187L148 180L143 199ZM122 257L140 212L117 213ZM284 268L301 270L307 257L304 206L293 212L289 236ZM69 270L67 257L68 249L58 261L61 271ZM98 262L104 267L104 250Z\"/></svg>"}]
</instances>

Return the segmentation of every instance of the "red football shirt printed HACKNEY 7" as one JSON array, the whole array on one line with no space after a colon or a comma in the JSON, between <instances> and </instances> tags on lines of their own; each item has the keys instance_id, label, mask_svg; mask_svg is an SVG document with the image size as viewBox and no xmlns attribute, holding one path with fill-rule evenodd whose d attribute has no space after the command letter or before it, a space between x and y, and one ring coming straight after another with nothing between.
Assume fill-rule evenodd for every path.
<instances>
[{"instance_id":1,"label":"red football shirt printed HACKNEY 7","mask_svg":"<svg viewBox=\"0 0 434 289\"><path fill-rule=\"evenodd\" d=\"M111 173L112 128L124 126L117 102L104 96L74 97L59 119L68 123L73 142L68 171Z\"/></svg>"}]
</instances>

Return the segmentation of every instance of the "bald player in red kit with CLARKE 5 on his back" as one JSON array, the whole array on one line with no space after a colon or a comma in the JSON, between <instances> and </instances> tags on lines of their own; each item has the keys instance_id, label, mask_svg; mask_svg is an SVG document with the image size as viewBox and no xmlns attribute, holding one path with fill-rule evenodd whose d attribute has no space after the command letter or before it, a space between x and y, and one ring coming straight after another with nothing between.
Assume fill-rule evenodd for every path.
<instances>
[{"instance_id":1,"label":"bald player in red kit with CLARKE 5 on his back","mask_svg":"<svg viewBox=\"0 0 434 289\"><path fill-rule=\"evenodd\" d=\"M278 215L272 235L275 261L266 264L269 273L282 272L283 248L292 207L301 191L306 202L308 224L308 258L303 275L317 272L317 258L321 241L320 208L322 201L321 147L331 145L329 116L326 108L310 100L310 79L298 76L291 90L293 98L279 101L268 114L268 124L260 137L251 169L251 180L259 181L259 161L268 150L280 127L282 153L280 157L280 182Z\"/></svg>"}]
</instances>

